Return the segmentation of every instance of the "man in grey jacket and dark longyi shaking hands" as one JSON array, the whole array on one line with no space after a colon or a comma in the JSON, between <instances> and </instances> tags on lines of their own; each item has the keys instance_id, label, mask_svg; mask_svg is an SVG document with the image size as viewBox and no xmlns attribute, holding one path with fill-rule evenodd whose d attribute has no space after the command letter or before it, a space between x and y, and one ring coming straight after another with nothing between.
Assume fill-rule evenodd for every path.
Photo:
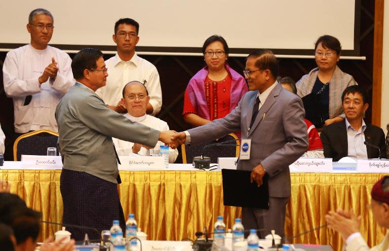
<instances>
[{"instance_id":1,"label":"man in grey jacket and dark longyi shaking hands","mask_svg":"<svg viewBox=\"0 0 389 251\"><path fill-rule=\"evenodd\" d=\"M108 76L98 49L84 48L71 63L77 81L57 105L60 153L63 156L60 190L63 223L109 229L113 220L125 219L117 184L121 183L112 137L153 146L171 143L173 131L160 132L108 109L95 91ZM84 238L85 230L67 228L72 238ZM99 238L88 232L91 239Z\"/></svg>"}]
</instances>

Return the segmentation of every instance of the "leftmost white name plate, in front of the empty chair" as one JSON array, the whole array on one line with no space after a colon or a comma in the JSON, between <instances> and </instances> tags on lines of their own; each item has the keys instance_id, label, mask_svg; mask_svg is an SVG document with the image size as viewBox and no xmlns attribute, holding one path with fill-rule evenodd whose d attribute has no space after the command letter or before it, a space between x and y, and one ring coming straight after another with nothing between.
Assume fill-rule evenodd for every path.
<instances>
[{"instance_id":1,"label":"leftmost white name plate, in front of the empty chair","mask_svg":"<svg viewBox=\"0 0 389 251\"><path fill-rule=\"evenodd\" d=\"M61 156L22 155L22 168L62 169Z\"/></svg>"}]
</instances>

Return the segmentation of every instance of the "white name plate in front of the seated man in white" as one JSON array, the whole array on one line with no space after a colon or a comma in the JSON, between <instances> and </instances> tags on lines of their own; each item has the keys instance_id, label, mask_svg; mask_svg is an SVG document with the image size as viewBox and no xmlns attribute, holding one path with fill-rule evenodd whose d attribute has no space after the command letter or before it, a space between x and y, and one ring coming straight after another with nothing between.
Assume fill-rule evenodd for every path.
<instances>
[{"instance_id":1,"label":"white name plate in front of the seated man in white","mask_svg":"<svg viewBox=\"0 0 389 251\"><path fill-rule=\"evenodd\" d=\"M119 170L166 170L164 158L157 156L119 156Z\"/></svg>"}]
</instances>

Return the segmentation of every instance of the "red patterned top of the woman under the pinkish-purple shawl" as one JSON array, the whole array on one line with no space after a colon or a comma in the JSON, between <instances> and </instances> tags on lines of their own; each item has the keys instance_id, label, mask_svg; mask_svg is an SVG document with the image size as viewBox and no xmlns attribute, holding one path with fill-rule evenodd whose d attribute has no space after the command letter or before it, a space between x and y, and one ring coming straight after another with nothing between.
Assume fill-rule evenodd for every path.
<instances>
[{"instance_id":1,"label":"red patterned top of the woman under the pinkish-purple shawl","mask_svg":"<svg viewBox=\"0 0 389 251\"><path fill-rule=\"evenodd\" d=\"M210 120L224 118L229 114L230 95L232 78L228 74L223 80L213 81L208 76L204 81L204 92L207 101L207 108ZM185 92L184 98L184 118L190 113L196 113L197 109L193 107L190 98Z\"/></svg>"}]
</instances>

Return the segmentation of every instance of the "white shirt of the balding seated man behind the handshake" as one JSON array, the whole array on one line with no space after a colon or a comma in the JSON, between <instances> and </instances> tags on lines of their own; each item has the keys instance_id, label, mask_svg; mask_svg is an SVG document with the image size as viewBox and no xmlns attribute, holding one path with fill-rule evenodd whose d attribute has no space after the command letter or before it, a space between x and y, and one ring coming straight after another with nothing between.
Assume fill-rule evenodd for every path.
<instances>
[{"instance_id":1,"label":"white shirt of the balding seated man behind the handshake","mask_svg":"<svg viewBox=\"0 0 389 251\"><path fill-rule=\"evenodd\" d=\"M150 115L145 114L141 117L134 117L126 113L123 116L133 122L138 122L142 125L149 126L155 130L159 130L159 131L169 130L169 126L165 121ZM119 156L129 156L130 153L132 153L132 146L134 145L133 142L128 142L117 138L112 138L112 140L115 145L116 152L118 152ZM157 144L155 145L155 148L160 148L161 145L165 145L165 143L162 141L158 141ZM149 150L144 147L141 147L138 152L138 155L149 155L149 154L150 154ZM169 147L169 162L174 163L174 161L177 159L177 156L178 156L178 150Z\"/></svg>"}]
</instances>

